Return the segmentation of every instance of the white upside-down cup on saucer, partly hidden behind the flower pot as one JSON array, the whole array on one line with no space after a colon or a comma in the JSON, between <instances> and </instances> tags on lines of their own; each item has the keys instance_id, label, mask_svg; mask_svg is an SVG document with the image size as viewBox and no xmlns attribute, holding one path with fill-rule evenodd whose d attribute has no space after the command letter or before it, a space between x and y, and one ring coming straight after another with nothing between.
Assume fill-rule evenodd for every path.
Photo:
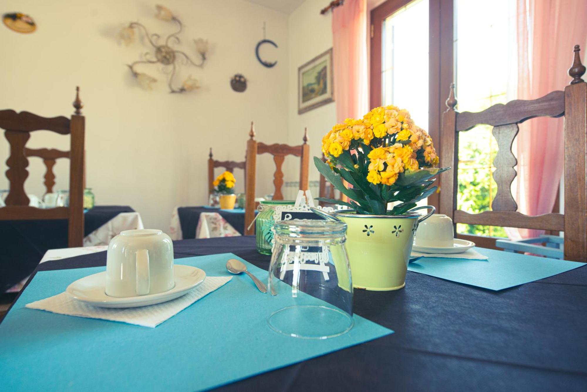
<instances>
[{"instance_id":1,"label":"white upside-down cup on saucer, partly hidden behind the flower pot","mask_svg":"<svg viewBox=\"0 0 587 392\"><path fill-rule=\"evenodd\" d=\"M421 222L414 235L412 250L432 254L458 254L473 248L475 243L454 238L453 219L444 214L433 214Z\"/></svg>"}]
</instances>

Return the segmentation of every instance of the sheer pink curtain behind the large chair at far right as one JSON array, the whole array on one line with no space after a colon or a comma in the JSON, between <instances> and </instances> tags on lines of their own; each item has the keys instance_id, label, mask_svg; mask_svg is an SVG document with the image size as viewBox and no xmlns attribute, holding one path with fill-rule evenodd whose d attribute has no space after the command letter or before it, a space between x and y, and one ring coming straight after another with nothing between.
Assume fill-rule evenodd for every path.
<instances>
[{"instance_id":1,"label":"sheer pink curtain behind the large chair at far right","mask_svg":"<svg viewBox=\"0 0 587 392\"><path fill-rule=\"evenodd\" d=\"M518 0L517 18L518 99L537 99L563 90L571 81L567 70L573 46L586 42L587 1ZM562 119L541 118L521 124L517 158L518 211L527 215L551 212L564 168ZM543 233L508 230L513 239Z\"/></svg>"}]
</instances>

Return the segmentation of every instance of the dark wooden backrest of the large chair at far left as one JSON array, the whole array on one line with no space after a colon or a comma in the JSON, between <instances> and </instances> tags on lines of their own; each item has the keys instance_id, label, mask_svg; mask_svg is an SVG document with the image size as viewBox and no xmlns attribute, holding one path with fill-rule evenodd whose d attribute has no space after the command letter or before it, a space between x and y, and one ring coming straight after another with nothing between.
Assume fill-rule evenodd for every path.
<instances>
[{"instance_id":1,"label":"dark wooden backrest of the large chair at far left","mask_svg":"<svg viewBox=\"0 0 587 392\"><path fill-rule=\"evenodd\" d=\"M6 197L6 207L0 208L0 220L18 221L30 219L68 219L68 244L83 245L83 154L85 117L82 116L83 104L79 99L77 87L76 100L73 102L75 114L71 119L59 116L46 118L21 111L0 110L0 128L4 129L6 140L10 145L10 155L6 160L10 191ZM25 155L26 142L31 132L48 130L62 135L70 135L69 162L69 207L36 208L29 207L24 184L29 173L26 170L28 159Z\"/></svg>"}]
</instances>

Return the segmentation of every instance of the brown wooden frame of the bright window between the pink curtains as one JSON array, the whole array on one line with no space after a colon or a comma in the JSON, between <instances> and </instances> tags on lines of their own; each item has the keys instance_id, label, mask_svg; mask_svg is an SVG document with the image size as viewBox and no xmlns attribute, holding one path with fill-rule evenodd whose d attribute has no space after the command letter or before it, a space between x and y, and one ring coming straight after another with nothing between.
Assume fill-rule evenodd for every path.
<instances>
[{"instance_id":1,"label":"brown wooden frame of the bright window between the pink curtains","mask_svg":"<svg viewBox=\"0 0 587 392\"><path fill-rule=\"evenodd\" d=\"M383 21L413 0L387 0L371 11L369 107L382 104L382 30ZM420 48L414 48L420 50ZM429 0L429 123L428 133L440 151L444 101L454 81L454 0ZM417 76L415 76L417 77ZM440 185L439 185L440 187ZM438 209L438 194L430 195L429 204Z\"/></svg>"}]
</instances>

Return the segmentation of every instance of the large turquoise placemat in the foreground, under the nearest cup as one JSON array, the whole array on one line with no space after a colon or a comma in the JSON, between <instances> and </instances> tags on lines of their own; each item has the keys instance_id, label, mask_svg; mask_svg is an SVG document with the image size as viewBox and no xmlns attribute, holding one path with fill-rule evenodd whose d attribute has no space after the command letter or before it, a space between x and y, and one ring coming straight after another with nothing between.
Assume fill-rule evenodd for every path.
<instances>
[{"instance_id":1,"label":"large turquoise placemat in the foreground, under the nearest cup","mask_svg":"<svg viewBox=\"0 0 587 392\"><path fill-rule=\"evenodd\" d=\"M228 276L229 258L240 259L222 254L176 262L198 266L210 276ZM244 262L249 271L266 280L266 271ZM288 298L259 293L245 275L234 276L154 329L24 307L104 270L35 275L0 324L0 389L200 391L393 333L355 315L353 329L332 339L283 336L269 329L266 317Z\"/></svg>"}]
</instances>

